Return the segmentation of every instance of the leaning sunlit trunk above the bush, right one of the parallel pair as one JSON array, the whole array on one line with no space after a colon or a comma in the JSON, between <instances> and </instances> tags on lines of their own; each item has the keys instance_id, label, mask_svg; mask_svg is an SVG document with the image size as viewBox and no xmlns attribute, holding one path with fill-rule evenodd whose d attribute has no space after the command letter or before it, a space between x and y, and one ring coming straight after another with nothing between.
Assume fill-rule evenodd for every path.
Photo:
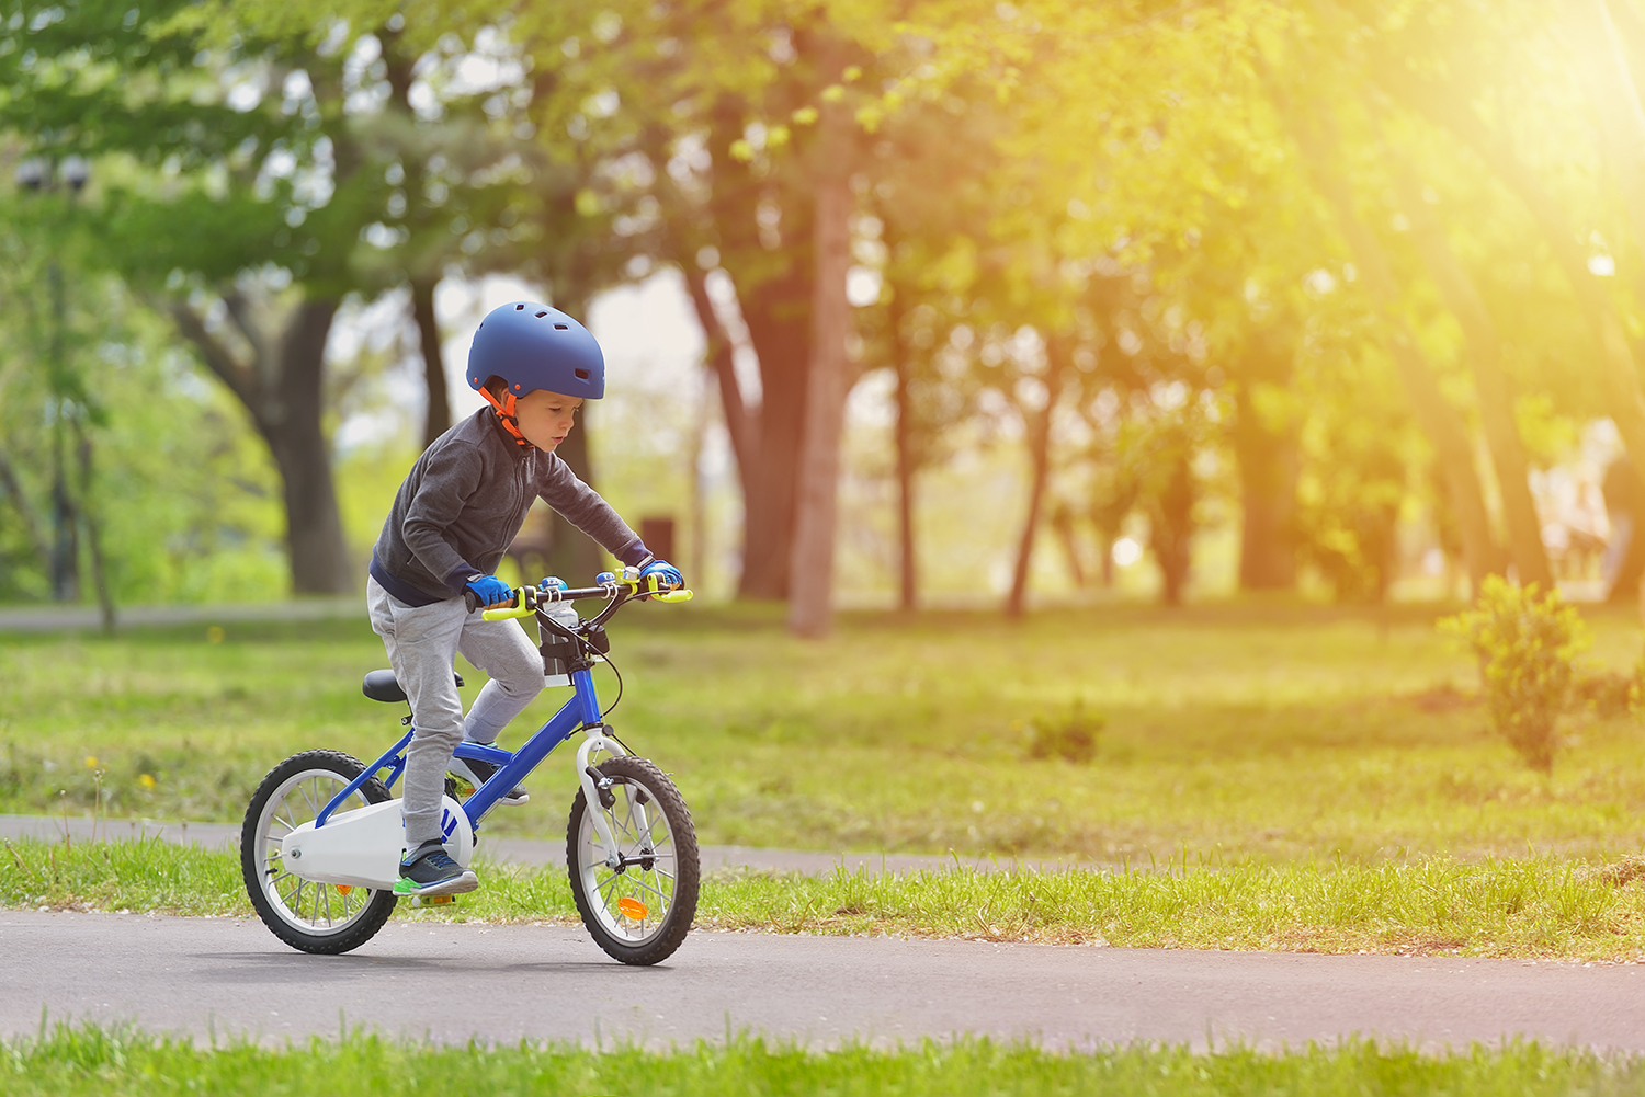
<instances>
[{"instance_id":1,"label":"leaning sunlit trunk above the bush, right one of the parallel pair","mask_svg":"<svg viewBox=\"0 0 1645 1097\"><path fill-rule=\"evenodd\" d=\"M1502 337L1495 321L1485 309L1474 281L1451 252L1444 227L1423 201L1421 184L1411 164L1400 155L1392 155L1393 181L1400 192L1400 206L1411 222L1416 250L1433 275L1446 306L1462 326L1467 362L1474 373L1474 390L1479 393L1479 418L1485 428L1485 446L1497 469L1497 487L1502 492L1502 515L1508 528L1508 558L1520 582L1535 582L1543 590L1553 589L1553 569L1548 567L1548 551L1541 543L1541 521L1536 518L1536 500L1531 498L1530 462L1513 421L1513 398L1508 393L1508 377L1502 368Z\"/></svg>"}]
</instances>

